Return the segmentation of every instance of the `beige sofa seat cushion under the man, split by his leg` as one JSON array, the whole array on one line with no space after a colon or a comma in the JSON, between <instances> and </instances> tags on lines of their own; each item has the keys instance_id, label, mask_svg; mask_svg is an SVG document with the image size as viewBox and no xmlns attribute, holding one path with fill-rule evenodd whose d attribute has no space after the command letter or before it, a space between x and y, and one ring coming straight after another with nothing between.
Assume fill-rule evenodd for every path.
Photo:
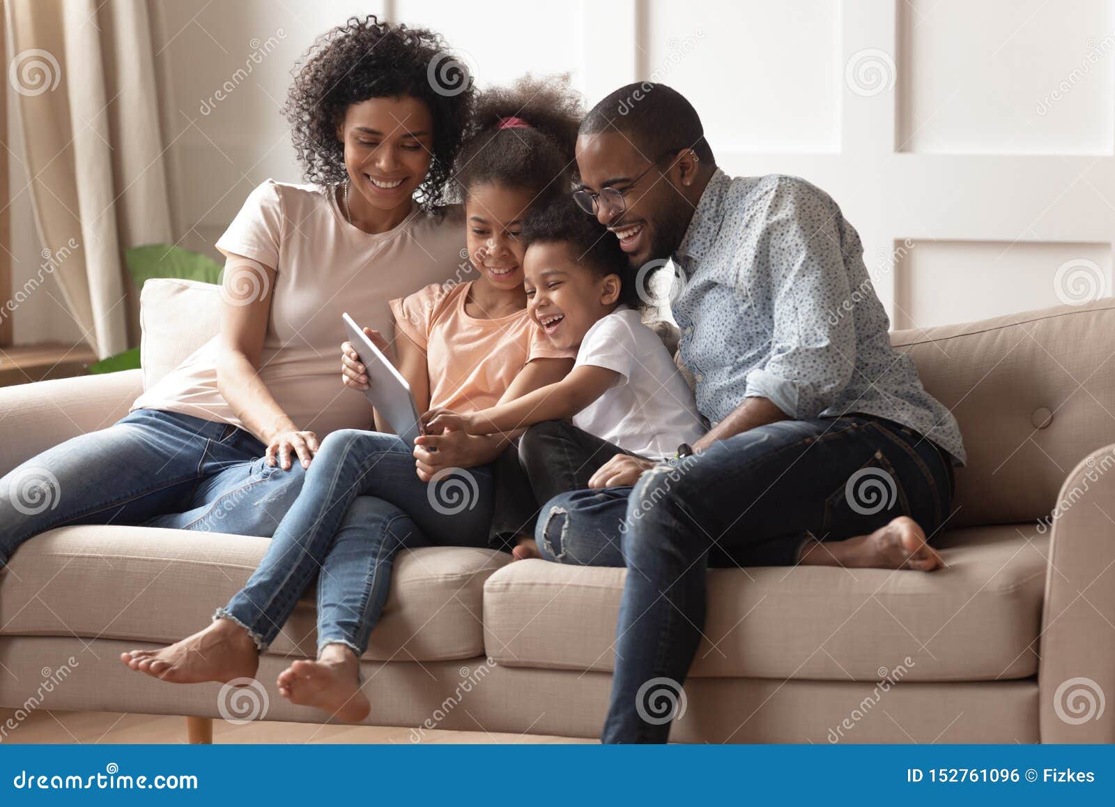
<instances>
[{"instance_id":1,"label":"beige sofa seat cushion under the man, split by his leg","mask_svg":"<svg viewBox=\"0 0 1115 807\"><path fill-rule=\"evenodd\" d=\"M823 567L711 569L691 675L911 681L1037 670L1048 537L1032 525L956 530L932 574ZM484 585L501 664L608 671L627 570L522 560ZM634 630L638 630L636 627ZM909 656L910 661L905 659Z\"/></svg>"}]
</instances>

